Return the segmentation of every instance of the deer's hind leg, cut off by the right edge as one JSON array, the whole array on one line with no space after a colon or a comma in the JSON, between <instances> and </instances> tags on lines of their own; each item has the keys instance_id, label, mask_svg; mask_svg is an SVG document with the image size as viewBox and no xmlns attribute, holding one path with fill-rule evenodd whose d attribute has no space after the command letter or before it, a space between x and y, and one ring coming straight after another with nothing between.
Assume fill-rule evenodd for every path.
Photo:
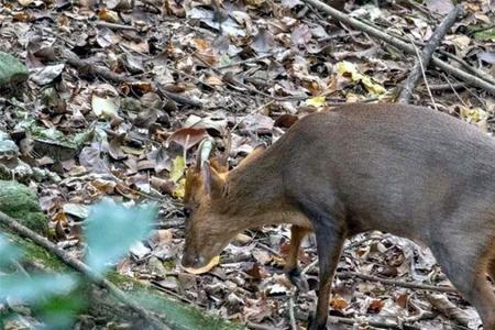
<instances>
[{"instance_id":1,"label":"deer's hind leg, cut off by the right edge","mask_svg":"<svg viewBox=\"0 0 495 330\"><path fill-rule=\"evenodd\" d=\"M474 246L461 246L458 242L443 240L431 250L461 296L479 312L483 329L495 330L495 294L486 280L493 268L490 270L486 246L474 245L473 241L470 243Z\"/></svg>"}]
</instances>

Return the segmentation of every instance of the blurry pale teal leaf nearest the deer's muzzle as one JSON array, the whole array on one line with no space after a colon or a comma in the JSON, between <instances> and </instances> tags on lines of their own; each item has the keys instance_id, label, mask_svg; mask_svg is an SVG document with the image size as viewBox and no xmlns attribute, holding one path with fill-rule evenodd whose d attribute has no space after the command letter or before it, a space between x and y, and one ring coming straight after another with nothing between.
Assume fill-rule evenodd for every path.
<instances>
[{"instance_id":1,"label":"blurry pale teal leaf nearest the deer's muzzle","mask_svg":"<svg viewBox=\"0 0 495 330\"><path fill-rule=\"evenodd\" d=\"M117 262L135 241L150 232L156 209L151 206L125 208L102 201L91 208L87 220L87 263L97 273Z\"/></svg>"}]
</instances>

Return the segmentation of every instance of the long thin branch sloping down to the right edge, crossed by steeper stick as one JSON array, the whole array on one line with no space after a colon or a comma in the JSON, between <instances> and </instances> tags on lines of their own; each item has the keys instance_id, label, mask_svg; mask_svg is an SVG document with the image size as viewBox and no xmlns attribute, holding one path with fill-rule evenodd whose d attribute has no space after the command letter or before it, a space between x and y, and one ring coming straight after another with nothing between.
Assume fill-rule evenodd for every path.
<instances>
[{"instance_id":1,"label":"long thin branch sloping down to the right edge, crossed by steeper stick","mask_svg":"<svg viewBox=\"0 0 495 330\"><path fill-rule=\"evenodd\" d=\"M304 0L304 2L309 3L309 4L314 6L315 8L326 12L328 15L332 16L336 20L339 20L339 21L341 21L354 29L358 29L360 31L364 31L367 34L370 34L371 36L380 38L383 42L386 42L406 53L416 54L416 51L411 45L403 42L402 40L399 40L397 37L389 35L383 31L380 31L380 30L372 28L363 22L360 22L360 21L349 16L348 14L336 10L319 0ZM483 79L480 79L466 72L463 72L463 70L439 59L436 56L432 57L431 63L433 65L436 65L438 68L451 74L452 76L458 77L459 79L465 81L466 84L482 88L495 96L495 85L486 82Z\"/></svg>"}]
</instances>

